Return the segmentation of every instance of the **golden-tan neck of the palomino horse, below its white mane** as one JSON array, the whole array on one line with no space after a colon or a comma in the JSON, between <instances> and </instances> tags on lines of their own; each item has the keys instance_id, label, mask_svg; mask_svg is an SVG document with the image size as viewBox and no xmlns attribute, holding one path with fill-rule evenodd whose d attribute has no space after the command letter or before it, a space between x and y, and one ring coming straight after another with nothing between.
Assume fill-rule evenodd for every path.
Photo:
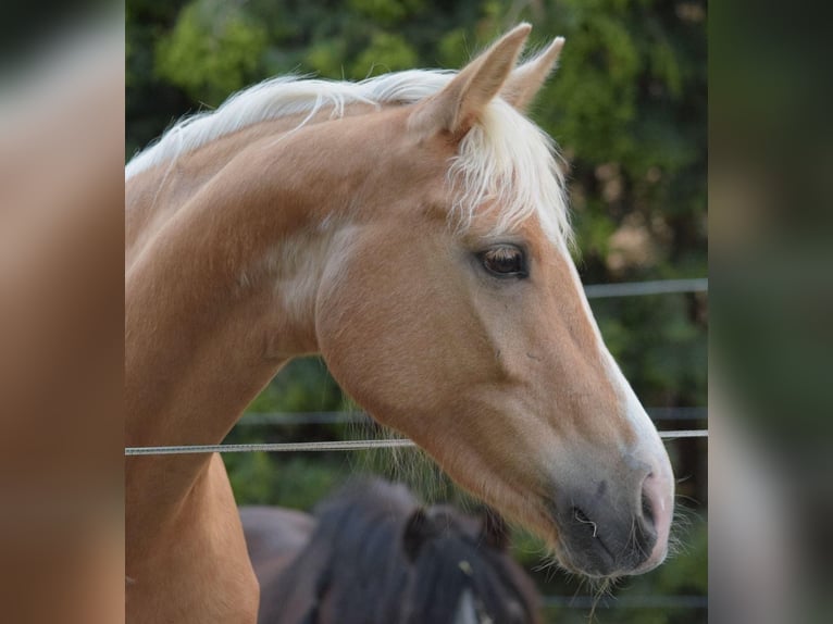
<instances>
[{"instance_id":1,"label":"golden-tan neck of the palomino horse, below its white mane","mask_svg":"<svg viewBox=\"0 0 833 624\"><path fill-rule=\"evenodd\" d=\"M366 138L333 140L324 125L254 141L238 133L213 154L209 146L128 180L128 446L221 441L283 363L318 350L318 282L346 236L341 198L365 173L351 142ZM128 463L127 496L164 483L154 491L164 513L208 461Z\"/></svg>"}]
</instances>

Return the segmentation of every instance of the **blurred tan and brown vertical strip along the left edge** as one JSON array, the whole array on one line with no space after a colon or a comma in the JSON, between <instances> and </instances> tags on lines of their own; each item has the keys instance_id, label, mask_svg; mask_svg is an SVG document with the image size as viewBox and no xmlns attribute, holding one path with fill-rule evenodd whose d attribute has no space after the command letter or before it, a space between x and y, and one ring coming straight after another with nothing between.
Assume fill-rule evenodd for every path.
<instances>
[{"instance_id":1,"label":"blurred tan and brown vertical strip along the left edge","mask_svg":"<svg viewBox=\"0 0 833 624\"><path fill-rule=\"evenodd\" d=\"M27 30L26 46L3 48L3 622L124 620L124 36L115 17L45 24L49 37Z\"/></svg>"}]
</instances>

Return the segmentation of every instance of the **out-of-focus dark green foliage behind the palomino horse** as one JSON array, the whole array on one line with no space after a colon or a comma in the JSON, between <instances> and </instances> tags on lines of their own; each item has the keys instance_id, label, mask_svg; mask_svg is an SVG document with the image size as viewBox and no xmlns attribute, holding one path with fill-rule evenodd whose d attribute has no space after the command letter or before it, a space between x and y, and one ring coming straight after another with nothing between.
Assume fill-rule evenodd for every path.
<instances>
[{"instance_id":1,"label":"out-of-focus dark green foliage behind the palomino horse","mask_svg":"<svg viewBox=\"0 0 833 624\"><path fill-rule=\"evenodd\" d=\"M126 10L127 158L182 115L214 108L276 74L361 79L412 67L458 68L522 20L534 26L533 47L562 35L560 68L531 114L569 165L582 279L707 275L705 1L127 0ZM707 296L594 299L592 307L659 427L705 427ZM322 361L298 360L250 405L227 441L385 435L363 421L330 415L356 409ZM325 412L311 419L325 422L299 422L293 415L299 412ZM708 444L676 440L668 448L685 508L680 552L613 589L616 599L596 610L598 622L707 620ZM309 510L360 471L408 481L426 500L465 502L410 450L224 459L240 504ZM518 532L514 548L542 594L552 597L547 622L586 622L593 594L563 574L536 571L542 546L533 537Z\"/></svg>"}]
</instances>

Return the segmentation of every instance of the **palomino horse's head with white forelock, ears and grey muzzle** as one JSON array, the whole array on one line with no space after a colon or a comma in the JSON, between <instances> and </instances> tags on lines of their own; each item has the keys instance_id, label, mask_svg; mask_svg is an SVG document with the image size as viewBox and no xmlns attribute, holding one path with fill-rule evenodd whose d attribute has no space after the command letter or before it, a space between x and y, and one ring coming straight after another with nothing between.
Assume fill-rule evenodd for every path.
<instances>
[{"instance_id":1,"label":"palomino horse's head with white forelock, ears and grey muzzle","mask_svg":"<svg viewBox=\"0 0 833 624\"><path fill-rule=\"evenodd\" d=\"M366 163L321 270L316 346L567 569L643 573L667 553L672 470L584 296L552 143L523 114L563 43L515 66L529 32L352 124L344 160Z\"/></svg>"}]
</instances>

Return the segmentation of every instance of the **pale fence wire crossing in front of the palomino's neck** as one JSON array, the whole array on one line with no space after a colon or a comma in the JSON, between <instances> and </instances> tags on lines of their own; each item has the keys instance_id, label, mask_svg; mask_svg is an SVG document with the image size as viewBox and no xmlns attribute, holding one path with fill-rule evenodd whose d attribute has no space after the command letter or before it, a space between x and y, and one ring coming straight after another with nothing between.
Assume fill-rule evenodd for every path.
<instances>
[{"instance_id":1,"label":"pale fence wire crossing in front of the palomino's neck","mask_svg":"<svg viewBox=\"0 0 833 624\"><path fill-rule=\"evenodd\" d=\"M708 429L659 432L663 439L707 438ZM254 442L246 445L179 445L170 447L127 447L125 455L176 455L194 453L321 452L409 448L416 445L407 438L382 440L333 440L315 442Z\"/></svg>"}]
</instances>

